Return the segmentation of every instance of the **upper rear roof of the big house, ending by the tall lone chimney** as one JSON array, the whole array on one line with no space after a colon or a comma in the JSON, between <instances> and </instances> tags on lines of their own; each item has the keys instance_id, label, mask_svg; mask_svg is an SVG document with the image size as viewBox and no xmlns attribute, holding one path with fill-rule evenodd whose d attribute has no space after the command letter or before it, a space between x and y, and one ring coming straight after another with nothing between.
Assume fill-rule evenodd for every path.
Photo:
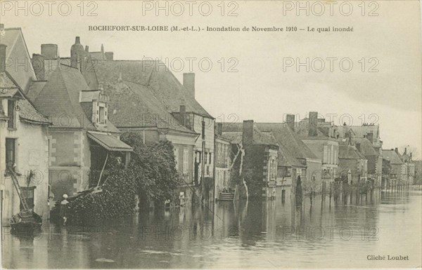
<instances>
[{"instance_id":1,"label":"upper rear roof of the big house, ending by the tall lone chimney","mask_svg":"<svg viewBox=\"0 0 422 270\"><path fill-rule=\"evenodd\" d=\"M96 71L98 82L103 87L119 78L132 81L150 88L155 97L164 104L167 112L179 112L180 104L184 102L186 112L212 118L160 61L98 60Z\"/></svg>"}]
</instances>

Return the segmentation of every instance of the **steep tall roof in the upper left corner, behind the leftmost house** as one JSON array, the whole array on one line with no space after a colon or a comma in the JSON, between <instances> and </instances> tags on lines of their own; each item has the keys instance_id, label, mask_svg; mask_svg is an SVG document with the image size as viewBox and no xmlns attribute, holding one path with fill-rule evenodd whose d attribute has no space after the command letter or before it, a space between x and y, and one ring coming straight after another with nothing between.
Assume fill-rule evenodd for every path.
<instances>
[{"instance_id":1,"label":"steep tall roof in the upper left corner, behind the leftmost house","mask_svg":"<svg viewBox=\"0 0 422 270\"><path fill-rule=\"evenodd\" d=\"M28 52L22 29L20 27L5 28L0 38L0 43L7 46L6 58L12 59L14 63L24 63L24 66L19 68L16 68L16 65L7 65L6 71L11 74L13 79L18 83L18 86L25 91L30 81L37 79L37 76L35 76L32 67L30 53Z\"/></svg>"}]
</instances>

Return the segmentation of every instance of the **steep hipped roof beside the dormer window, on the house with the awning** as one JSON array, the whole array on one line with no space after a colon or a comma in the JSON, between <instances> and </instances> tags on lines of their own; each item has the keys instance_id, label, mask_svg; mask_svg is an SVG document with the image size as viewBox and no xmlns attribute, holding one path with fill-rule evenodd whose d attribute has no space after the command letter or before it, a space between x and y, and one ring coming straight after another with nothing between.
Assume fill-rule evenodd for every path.
<instances>
[{"instance_id":1,"label":"steep hipped roof beside the dormer window, on the house with the awning","mask_svg":"<svg viewBox=\"0 0 422 270\"><path fill-rule=\"evenodd\" d=\"M97 129L79 103L80 91L90 90L84 76L78 69L61 65L51 74L38 95L32 95L31 91L28 95L34 98L35 107L43 114L51 116L55 127ZM34 88L30 87L32 89ZM110 121L107 123L107 130L119 132Z\"/></svg>"}]
</instances>

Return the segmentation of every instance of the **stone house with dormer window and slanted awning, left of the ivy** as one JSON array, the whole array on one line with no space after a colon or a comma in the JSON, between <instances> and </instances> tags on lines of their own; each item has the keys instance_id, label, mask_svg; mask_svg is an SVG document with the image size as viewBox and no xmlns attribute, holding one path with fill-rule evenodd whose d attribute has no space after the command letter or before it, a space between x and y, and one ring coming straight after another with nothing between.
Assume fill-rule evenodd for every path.
<instances>
[{"instance_id":1,"label":"stone house with dormer window and slanted awning, left of the ivy","mask_svg":"<svg viewBox=\"0 0 422 270\"><path fill-rule=\"evenodd\" d=\"M108 155L113 152L128 163L132 147L119 140L121 132L109 120L108 95L92 89L96 83L87 83L87 78L96 77L89 74L89 58L79 39L70 50L70 65L65 64L69 59L58 58L57 48L46 48L41 46L46 59L38 62L44 62L42 80L32 81L26 95L52 122L49 181L58 200L101 184L107 177L103 166Z\"/></svg>"}]
</instances>

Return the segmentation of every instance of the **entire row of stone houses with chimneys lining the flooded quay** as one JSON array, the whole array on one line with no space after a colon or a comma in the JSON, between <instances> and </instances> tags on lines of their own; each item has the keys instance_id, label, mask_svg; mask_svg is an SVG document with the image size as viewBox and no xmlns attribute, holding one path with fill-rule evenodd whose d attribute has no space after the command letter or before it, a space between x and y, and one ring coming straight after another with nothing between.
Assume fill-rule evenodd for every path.
<instances>
[{"instance_id":1,"label":"entire row of stone houses with chimneys lining the flooded quay","mask_svg":"<svg viewBox=\"0 0 422 270\"><path fill-rule=\"evenodd\" d=\"M184 183L175 192L184 203L236 192L261 198L287 185L323 192L336 180L411 181L411 154L394 151L396 160L383 151L379 126L334 126L317 112L280 123L216 123L196 100L193 73L180 82L159 60L115 60L78 36L70 57L60 57L53 43L31 57L20 28L0 25L0 34L3 224L22 207L8 169L19 173L27 201L47 218L48 205L63 194L106 179L110 153L129 163L133 149L120 140L127 131L144 144L172 142Z\"/></svg>"}]
</instances>

